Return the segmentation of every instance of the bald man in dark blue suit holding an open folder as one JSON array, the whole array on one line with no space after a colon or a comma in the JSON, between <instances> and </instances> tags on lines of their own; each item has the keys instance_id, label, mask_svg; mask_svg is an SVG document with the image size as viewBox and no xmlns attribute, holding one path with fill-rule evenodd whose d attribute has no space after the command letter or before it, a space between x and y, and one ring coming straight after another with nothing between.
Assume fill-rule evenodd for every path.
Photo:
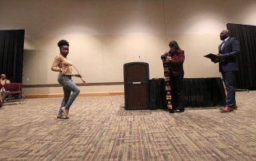
<instances>
[{"instance_id":1,"label":"bald man in dark blue suit holding an open folder","mask_svg":"<svg viewBox=\"0 0 256 161\"><path fill-rule=\"evenodd\" d=\"M219 72L222 73L226 86L226 106L220 108L222 112L232 112L237 109L235 100L235 73L238 71L238 54L240 53L239 41L230 37L229 30L220 33L222 44L218 46Z\"/></svg>"}]
</instances>

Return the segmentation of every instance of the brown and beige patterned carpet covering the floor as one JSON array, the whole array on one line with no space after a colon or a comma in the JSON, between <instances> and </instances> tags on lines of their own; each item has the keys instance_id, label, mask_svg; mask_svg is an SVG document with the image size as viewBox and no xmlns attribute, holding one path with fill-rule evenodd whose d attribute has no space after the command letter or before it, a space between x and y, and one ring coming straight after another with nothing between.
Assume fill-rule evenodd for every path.
<instances>
[{"instance_id":1,"label":"brown and beige patterned carpet covering the floor","mask_svg":"<svg viewBox=\"0 0 256 161\"><path fill-rule=\"evenodd\" d=\"M126 111L124 96L78 97L69 120L61 98L0 108L0 160L256 160L256 91L237 92L238 111Z\"/></svg>"}]
</instances>

